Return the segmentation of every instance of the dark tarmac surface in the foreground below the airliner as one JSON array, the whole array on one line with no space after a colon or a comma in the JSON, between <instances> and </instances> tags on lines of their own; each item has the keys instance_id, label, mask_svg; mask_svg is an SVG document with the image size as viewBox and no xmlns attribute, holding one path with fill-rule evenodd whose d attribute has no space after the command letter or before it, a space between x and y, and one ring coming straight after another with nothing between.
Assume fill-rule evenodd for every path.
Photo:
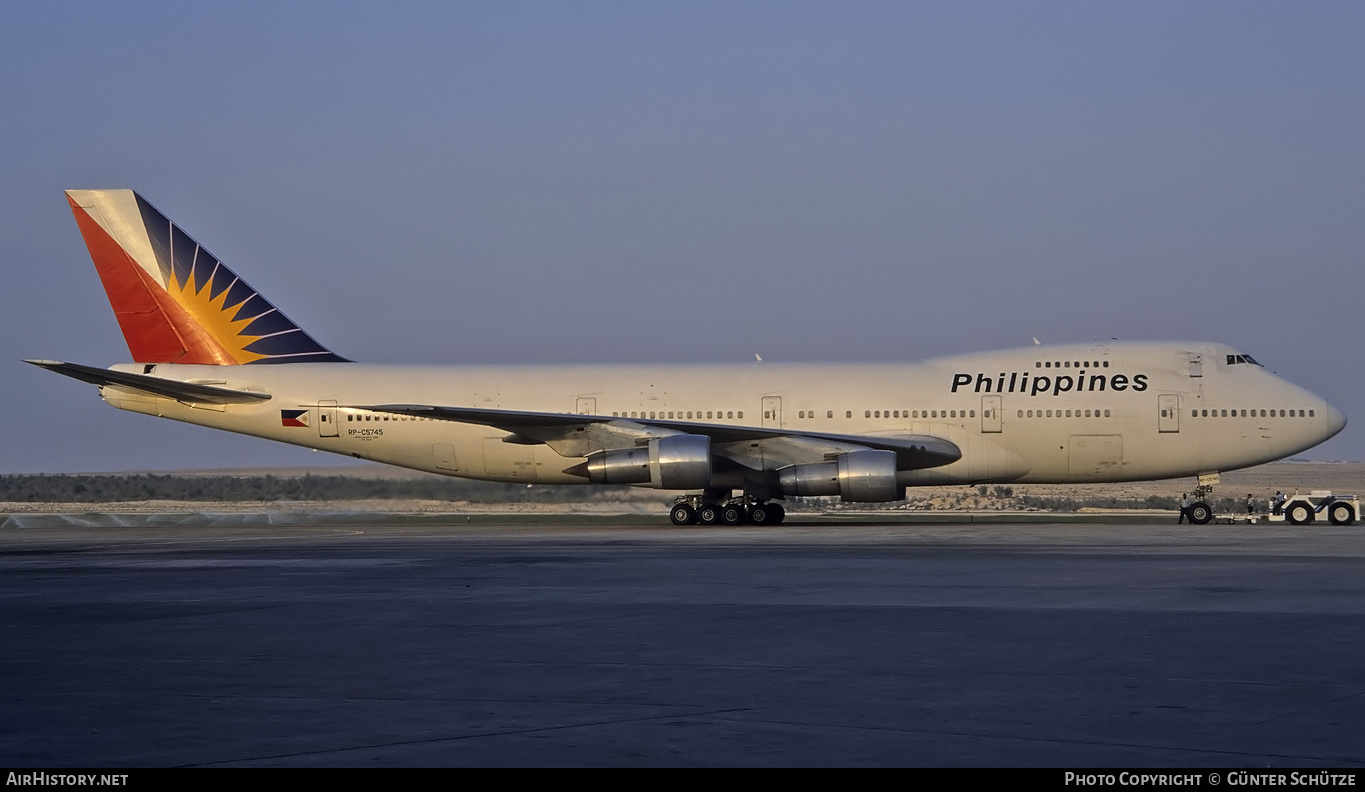
<instances>
[{"instance_id":1,"label":"dark tarmac surface in the foreground below the airliner","mask_svg":"<svg viewBox=\"0 0 1365 792\"><path fill-rule=\"evenodd\" d=\"M0 528L0 762L1365 765L1365 528Z\"/></svg>"}]
</instances>

